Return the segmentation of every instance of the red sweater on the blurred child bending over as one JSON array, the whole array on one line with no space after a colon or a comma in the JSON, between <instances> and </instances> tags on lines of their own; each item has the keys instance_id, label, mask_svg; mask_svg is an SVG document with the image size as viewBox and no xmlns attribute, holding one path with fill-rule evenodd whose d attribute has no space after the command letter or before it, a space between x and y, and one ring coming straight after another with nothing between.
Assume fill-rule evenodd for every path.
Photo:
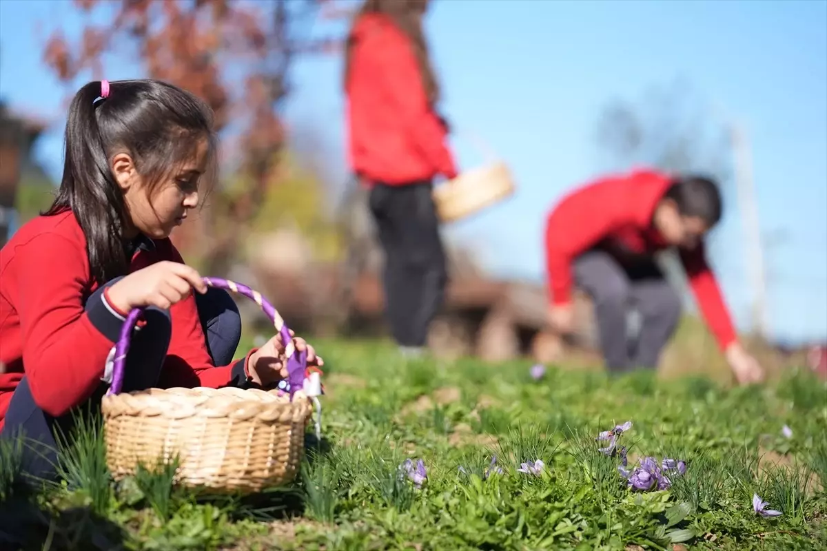
<instances>
[{"instance_id":1,"label":"red sweater on the blurred child bending over","mask_svg":"<svg viewBox=\"0 0 827 551\"><path fill-rule=\"evenodd\" d=\"M600 179L563 197L546 225L547 276L553 303L571 300L571 263L595 245L632 254L654 254L667 248L652 219L669 185L665 174L639 171ZM680 256L700 311L725 349L735 340L735 330L706 262L704 246L681 250Z\"/></svg>"}]
</instances>

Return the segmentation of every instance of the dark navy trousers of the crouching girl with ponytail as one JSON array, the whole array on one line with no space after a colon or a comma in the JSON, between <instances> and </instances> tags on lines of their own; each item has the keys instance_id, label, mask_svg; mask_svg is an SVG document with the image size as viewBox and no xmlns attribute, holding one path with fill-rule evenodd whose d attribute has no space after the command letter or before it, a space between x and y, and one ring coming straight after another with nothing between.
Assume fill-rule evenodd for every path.
<instances>
[{"instance_id":1,"label":"dark navy trousers of the crouching girl with ponytail","mask_svg":"<svg viewBox=\"0 0 827 551\"><path fill-rule=\"evenodd\" d=\"M88 298L87 305L101 300L103 289L117 279L100 287ZM210 287L208 292L195 294L198 317L201 319L207 347L215 365L232 362L238 341L241 340L241 316L230 294ZM172 335L170 311L155 307L144 312L146 325L133 331L127 363L124 366L122 392L133 392L154 387L166 358ZM17 384L4 420L0 438L22 435L26 439L24 470L32 477L52 480L56 477L57 444L55 435L60 431L69 435L79 412L99 411L100 401L108 384L101 382L98 390L87 403L80 405L65 416L53 417L41 410L31 397L26 377Z\"/></svg>"}]
</instances>

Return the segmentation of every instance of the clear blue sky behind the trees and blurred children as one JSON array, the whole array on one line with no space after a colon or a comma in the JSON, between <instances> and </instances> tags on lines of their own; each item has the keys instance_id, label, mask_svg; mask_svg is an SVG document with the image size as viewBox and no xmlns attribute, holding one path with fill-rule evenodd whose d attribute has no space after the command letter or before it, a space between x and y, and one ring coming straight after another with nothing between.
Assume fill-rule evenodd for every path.
<instances>
[{"instance_id":1,"label":"clear blue sky behind the trees and blurred children","mask_svg":"<svg viewBox=\"0 0 827 551\"><path fill-rule=\"evenodd\" d=\"M56 117L37 151L55 178L66 91L41 64L41 36L59 25L69 36L79 31L70 4L0 2L0 97ZM762 233L782 235L765 251L772 334L827 338L827 2L437 0L427 26L443 111L480 135L519 183L508 202L447 229L476 246L491 271L542 278L548 208L600 172L601 107L681 78L748 130ZM141 76L128 59L107 69L111 79ZM287 115L322 133L331 173L343 181L340 71L337 57L299 63ZM485 160L459 137L453 143L461 165ZM736 322L748 328L742 235L730 205L711 261Z\"/></svg>"}]
</instances>

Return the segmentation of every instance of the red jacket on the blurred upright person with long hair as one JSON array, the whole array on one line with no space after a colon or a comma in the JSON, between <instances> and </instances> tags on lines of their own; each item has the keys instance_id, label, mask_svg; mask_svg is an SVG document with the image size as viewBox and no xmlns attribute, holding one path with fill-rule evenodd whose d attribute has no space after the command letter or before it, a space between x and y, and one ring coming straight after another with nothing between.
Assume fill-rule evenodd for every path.
<instances>
[{"instance_id":1,"label":"red jacket on the blurred upright person with long hair","mask_svg":"<svg viewBox=\"0 0 827 551\"><path fill-rule=\"evenodd\" d=\"M372 182L454 178L447 131L429 105L410 41L385 16L366 15L352 38L347 82L351 169Z\"/></svg>"}]
</instances>

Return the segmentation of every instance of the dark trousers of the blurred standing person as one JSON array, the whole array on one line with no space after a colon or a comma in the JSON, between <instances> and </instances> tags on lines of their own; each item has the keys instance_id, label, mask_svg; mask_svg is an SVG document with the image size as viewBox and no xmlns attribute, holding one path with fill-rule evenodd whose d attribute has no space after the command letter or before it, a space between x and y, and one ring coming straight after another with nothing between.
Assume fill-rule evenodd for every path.
<instances>
[{"instance_id":1,"label":"dark trousers of the blurred standing person","mask_svg":"<svg viewBox=\"0 0 827 551\"><path fill-rule=\"evenodd\" d=\"M375 183L370 211L385 251L385 311L400 346L420 347L442 306L445 251L430 182Z\"/></svg>"}]
</instances>

